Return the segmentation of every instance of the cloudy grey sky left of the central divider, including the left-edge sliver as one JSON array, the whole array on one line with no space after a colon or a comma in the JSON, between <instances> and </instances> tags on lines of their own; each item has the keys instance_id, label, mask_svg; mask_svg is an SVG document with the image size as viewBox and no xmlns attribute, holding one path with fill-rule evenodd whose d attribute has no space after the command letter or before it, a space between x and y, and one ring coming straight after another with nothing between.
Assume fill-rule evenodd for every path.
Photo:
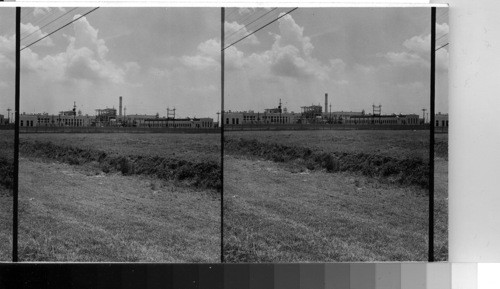
<instances>
[{"instance_id":1,"label":"cloudy grey sky left of the central divider, including the left-edge sliver","mask_svg":"<svg viewBox=\"0 0 500 289\"><path fill-rule=\"evenodd\" d=\"M22 46L90 10L78 8L38 30L72 8L27 9ZM76 102L93 115L118 108L122 96L127 114L165 116L175 107L176 117L215 119L220 63L208 69L199 46L220 39L220 17L218 8L100 8L21 52L21 112L58 113ZM0 100L11 108L14 23L14 10L0 9Z\"/></svg>"}]
</instances>

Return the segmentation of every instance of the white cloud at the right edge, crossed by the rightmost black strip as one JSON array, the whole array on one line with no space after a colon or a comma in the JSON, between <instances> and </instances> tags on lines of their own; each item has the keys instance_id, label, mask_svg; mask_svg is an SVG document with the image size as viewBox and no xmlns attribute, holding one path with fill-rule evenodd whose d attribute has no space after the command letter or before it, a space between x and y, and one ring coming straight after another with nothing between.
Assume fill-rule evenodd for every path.
<instances>
[{"instance_id":1,"label":"white cloud at the right edge, crossed by the rightmost black strip","mask_svg":"<svg viewBox=\"0 0 500 289\"><path fill-rule=\"evenodd\" d=\"M441 37L449 32L449 26L446 23L436 25L436 37ZM419 65L429 67L429 53L431 45L431 35L413 36L403 42L406 51L389 52L385 58L394 65L409 66ZM448 50L442 48L436 52L436 65L438 70L448 69Z\"/></svg>"}]
</instances>

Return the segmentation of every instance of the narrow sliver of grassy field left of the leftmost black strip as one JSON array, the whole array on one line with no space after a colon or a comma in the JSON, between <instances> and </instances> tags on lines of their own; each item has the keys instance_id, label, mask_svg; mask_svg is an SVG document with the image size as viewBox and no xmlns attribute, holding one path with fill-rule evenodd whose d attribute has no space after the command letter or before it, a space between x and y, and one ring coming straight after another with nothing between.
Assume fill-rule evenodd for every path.
<instances>
[{"instance_id":1,"label":"narrow sliver of grassy field left of the leftmost black strip","mask_svg":"<svg viewBox=\"0 0 500 289\"><path fill-rule=\"evenodd\" d=\"M14 131L0 130L0 261L12 260Z\"/></svg>"}]
</instances>

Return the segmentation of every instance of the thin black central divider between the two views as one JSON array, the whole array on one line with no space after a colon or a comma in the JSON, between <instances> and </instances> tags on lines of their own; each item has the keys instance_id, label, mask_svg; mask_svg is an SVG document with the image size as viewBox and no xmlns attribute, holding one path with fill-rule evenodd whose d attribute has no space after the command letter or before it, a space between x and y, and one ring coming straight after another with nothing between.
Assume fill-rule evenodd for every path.
<instances>
[{"instance_id":1,"label":"thin black central divider between the two views","mask_svg":"<svg viewBox=\"0 0 500 289\"><path fill-rule=\"evenodd\" d=\"M221 79L221 98L220 98L220 105L221 105L221 118L220 118L220 141L221 141L221 147L220 147L220 155L221 155L221 183L222 183L222 189L221 189L221 195L220 195L220 261L221 263L224 263L224 38L225 36L225 31L224 31L224 22L225 22L225 8L221 8L221 38L220 38L220 65L221 65L221 73L220 73L220 79Z\"/></svg>"}]
</instances>

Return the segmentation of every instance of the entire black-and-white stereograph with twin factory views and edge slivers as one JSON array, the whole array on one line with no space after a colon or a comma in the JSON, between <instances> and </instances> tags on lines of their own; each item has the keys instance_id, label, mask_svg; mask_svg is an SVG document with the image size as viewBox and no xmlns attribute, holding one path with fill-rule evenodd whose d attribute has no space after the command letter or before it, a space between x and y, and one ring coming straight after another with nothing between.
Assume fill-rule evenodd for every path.
<instances>
[{"instance_id":1,"label":"entire black-and-white stereograph with twin factory views and edge slivers","mask_svg":"<svg viewBox=\"0 0 500 289\"><path fill-rule=\"evenodd\" d=\"M16 67L0 9L0 261L447 260L448 9L19 16Z\"/></svg>"}]
</instances>

